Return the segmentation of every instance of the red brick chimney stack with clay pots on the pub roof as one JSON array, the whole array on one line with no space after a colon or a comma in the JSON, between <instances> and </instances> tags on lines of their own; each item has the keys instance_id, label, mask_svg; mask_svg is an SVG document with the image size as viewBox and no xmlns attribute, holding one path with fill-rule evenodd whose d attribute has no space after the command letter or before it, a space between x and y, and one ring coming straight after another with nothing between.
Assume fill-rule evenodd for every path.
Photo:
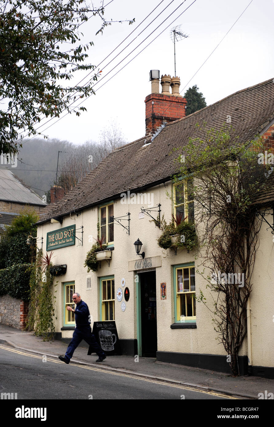
<instances>
[{"instance_id":1,"label":"red brick chimney stack with clay pots on the pub roof","mask_svg":"<svg viewBox=\"0 0 274 427\"><path fill-rule=\"evenodd\" d=\"M162 93L159 93L160 74L158 70L150 71L152 93L145 99L146 103L146 143L153 140L163 123L173 122L186 115L187 100L179 93L180 78L161 76ZM172 93L169 87L172 88Z\"/></svg>"}]
</instances>

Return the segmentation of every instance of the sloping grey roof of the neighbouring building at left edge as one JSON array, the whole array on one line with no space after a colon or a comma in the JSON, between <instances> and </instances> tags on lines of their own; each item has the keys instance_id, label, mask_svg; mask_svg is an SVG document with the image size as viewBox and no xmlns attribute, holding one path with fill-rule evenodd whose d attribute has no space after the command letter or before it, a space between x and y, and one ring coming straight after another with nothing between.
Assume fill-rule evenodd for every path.
<instances>
[{"instance_id":1,"label":"sloping grey roof of the neighbouring building at left edge","mask_svg":"<svg viewBox=\"0 0 274 427\"><path fill-rule=\"evenodd\" d=\"M11 170L0 167L0 200L26 205L47 206L34 191L23 185Z\"/></svg>"}]
</instances>

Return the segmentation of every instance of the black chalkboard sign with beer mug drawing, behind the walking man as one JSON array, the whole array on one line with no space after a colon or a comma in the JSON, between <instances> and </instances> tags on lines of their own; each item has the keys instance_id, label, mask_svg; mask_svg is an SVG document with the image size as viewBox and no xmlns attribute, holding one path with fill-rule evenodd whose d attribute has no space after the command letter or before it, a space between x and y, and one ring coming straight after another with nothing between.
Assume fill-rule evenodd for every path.
<instances>
[{"instance_id":1,"label":"black chalkboard sign with beer mug drawing, behind the walking man","mask_svg":"<svg viewBox=\"0 0 274 427\"><path fill-rule=\"evenodd\" d=\"M93 322L92 333L105 354L121 354L117 328L114 320ZM92 353L92 348L87 354Z\"/></svg>"}]
</instances>

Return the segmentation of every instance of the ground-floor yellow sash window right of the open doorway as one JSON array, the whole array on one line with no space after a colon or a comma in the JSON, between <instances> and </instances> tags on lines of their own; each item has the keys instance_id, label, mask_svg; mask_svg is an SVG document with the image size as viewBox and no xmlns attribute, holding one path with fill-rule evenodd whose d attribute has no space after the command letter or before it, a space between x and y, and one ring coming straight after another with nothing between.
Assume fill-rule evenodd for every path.
<instances>
[{"instance_id":1,"label":"ground-floor yellow sash window right of the open doorway","mask_svg":"<svg viewBox=\"0 0 274 427\"><path fill-rule=\"evenodd\" d=\"M195 267L184 264L174 267L175 273L175 322L196 319Z\"/></svg>"}]
</instances>

